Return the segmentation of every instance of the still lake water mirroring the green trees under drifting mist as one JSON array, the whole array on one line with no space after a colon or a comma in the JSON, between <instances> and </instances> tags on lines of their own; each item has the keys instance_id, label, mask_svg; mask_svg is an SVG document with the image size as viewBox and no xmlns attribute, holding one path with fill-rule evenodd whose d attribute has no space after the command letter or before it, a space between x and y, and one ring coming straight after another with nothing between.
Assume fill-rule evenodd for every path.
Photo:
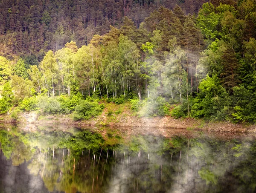
<instances>
[{"instance_id":1,"label":"still lake water mirroring the green trees under drifting mist","mask_svg":"<svg viewBox=\"0 0 256 193\"><path fill-rule=\"evenodd\" d=\"M106 132L107 131L107 132ZM0 192L254 192L254 137L0 130Z\"/></svg>"}]
</instances>

